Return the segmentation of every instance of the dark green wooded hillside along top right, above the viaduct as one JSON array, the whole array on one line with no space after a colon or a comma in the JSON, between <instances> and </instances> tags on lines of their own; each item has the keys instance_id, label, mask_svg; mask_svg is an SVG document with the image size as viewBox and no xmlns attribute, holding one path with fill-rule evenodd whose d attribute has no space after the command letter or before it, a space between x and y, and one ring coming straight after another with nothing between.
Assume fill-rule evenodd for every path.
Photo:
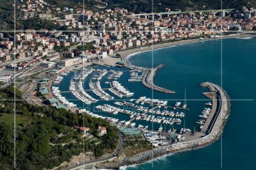
<instances>
[{"instance_id":1,"label":"dark green wooded hillside along top right, above the viaduct","mask_svg":"<svg viewBox=\"0 0 256 170\"><path fill-rule=\"evenodd\" d=\"M138 1L129 1L129 0L104 0L103 2L108 2L108 8L124 8L129 12L152 12L152 0L138 0ZM153 1L154 12L165 11L165 8L171 10L181 9L182 11L187 10L207 10L207 9L221 9L221 2L219 0L203 1L203 0L154 0ZM222 7L223 9L230 8L242 8L246 7L256 7L256 2L250 1L248 4L247 0L241 1L232 1L232 0L223 0Z\"/></svg>"}]
</instances>

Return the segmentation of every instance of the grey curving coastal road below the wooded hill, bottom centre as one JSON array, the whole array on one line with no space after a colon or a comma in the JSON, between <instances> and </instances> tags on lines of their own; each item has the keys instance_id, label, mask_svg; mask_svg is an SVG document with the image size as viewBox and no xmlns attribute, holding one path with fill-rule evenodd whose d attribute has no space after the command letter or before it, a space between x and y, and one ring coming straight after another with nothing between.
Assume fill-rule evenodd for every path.
<instances>
[{"instance_id":1,"label":"grey curving coastal road below the wooded hill, bottom centre","mask_svg":"<svg viewBox=\"0 0 256 170\"><path fill-rule=\"evenodd\" d=\"M81 168L81 167L83 167L84 165L87 165L87 164L104 162L104 161L107 161L109 159L112 159L112 158L116 157L121 152L121 149L124 145L124 140L123 140L123 137L120 133L118 133L118 137L119 137L118 146L117 146L115 152L112 155L104 157L104 158L99 158L99 159L87 161L87 162L82 162L82 163L79 163L77 165L73 165L73 166L70 166L68 168L64 168L62 170L75 170L75 169Z\"/></svg>"}]
</instances>

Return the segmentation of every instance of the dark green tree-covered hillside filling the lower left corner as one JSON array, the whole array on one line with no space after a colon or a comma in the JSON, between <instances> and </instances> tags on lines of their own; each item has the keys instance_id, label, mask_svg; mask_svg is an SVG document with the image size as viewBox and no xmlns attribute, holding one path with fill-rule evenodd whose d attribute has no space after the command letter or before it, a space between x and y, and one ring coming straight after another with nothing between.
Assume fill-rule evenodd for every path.
<instances>
[{"instance_id":1,"label":"dark green tree-covered hillside filling the lower left corner","mask_svg":"<svg viewBox=\"0 0 256 170\"><path fill-rule=\"evenodd\" d=\"M118 130L103 119L89 115L78 115L65 109L39 107L22 99L23 93L16 93L16 169L42 169L58 166L69 161L73 155L92 151L101 156L105 149L113 150L118 142ZM14 88L0 89L0 167L14 169ZM3 100L5 99L5 100ZM44 116L37 117L37 113ZM98 144L83 139L74 126L90 128L98 138ZM105 126L108 133L98 136L98 126ZM84 142L84 145L82 144Z\"/></svg>"}]
</instances>

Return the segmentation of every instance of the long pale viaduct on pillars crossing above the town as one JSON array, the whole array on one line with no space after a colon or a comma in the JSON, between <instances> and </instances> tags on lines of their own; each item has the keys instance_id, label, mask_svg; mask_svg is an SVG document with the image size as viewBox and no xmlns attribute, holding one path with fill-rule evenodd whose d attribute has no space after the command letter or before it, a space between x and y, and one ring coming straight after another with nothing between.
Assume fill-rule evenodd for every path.
<instances>
[{"instance_id":1,"label":"long pale viaduct on pillars crossing above the town","mask_svg":"<svg viewBox=\"0 0 256 170\"><path fill-rule=\"evenodd\" d=\"M159 12L159 13L140 13L140 14L132 14L132 15L126 15L126 16L148 16L148 15L169 15L169 14L184 14L184 13L198 13L198 12L204 12L207 14L217 14L218 12L221 12L222 15L225 16L225 13L229 13L234 9L219 9L219 10L197 10L197 11L169 11L169 12Z\"/></svg>"}]
</instances>

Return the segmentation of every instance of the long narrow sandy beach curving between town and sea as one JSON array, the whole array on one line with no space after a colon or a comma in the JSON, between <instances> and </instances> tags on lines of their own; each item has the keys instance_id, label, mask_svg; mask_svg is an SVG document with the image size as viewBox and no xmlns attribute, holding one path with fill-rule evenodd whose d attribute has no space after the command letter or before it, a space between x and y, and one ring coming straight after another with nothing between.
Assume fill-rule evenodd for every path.
<instances>
[{"instance_id":1,"label":"long narrow sandy beach curving between town and sea","mask_svg":"<svg viewBox=\"0 0 256 170\"><path fill-rule=\"evenodd\" d=\"M141 48L133 48L131 50L125 50L125 51L120 51L118 54L121 55L121 58L124 60L129 60L130 57L143 53L143 52L148 52L148 51L153 51L157 50L160 48L167 48L167 47L172 47L176 45L182 45L182 44L187 44L187 43L194 43L194 42L201 42L201 41L209 41L209 40L215 40L215 39L226 39L226 38L236 38L236 37L252 37L255 36L255 34L230 34L230 35L223 35L219 36L216 38L202 38L202 39L193 39L193 40L181 40L181 41L176 41L176 42L167 42L167 43L161 43L161 44L154 44L151 46L143 46Z\"/></svg>"}]
</instances>

